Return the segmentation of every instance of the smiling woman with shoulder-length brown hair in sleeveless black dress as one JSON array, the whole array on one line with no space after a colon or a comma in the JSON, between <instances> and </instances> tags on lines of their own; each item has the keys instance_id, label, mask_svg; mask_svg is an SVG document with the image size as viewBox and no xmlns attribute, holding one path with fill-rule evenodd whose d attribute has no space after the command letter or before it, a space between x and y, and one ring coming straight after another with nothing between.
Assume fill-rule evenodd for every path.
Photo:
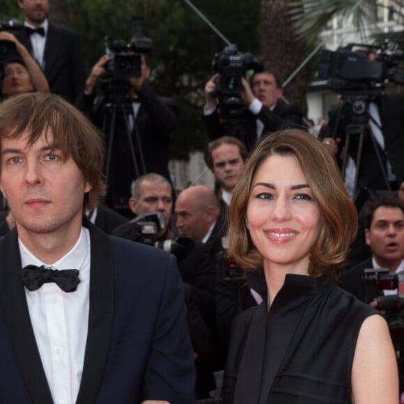
<instances>
[{"instance_id":1,"label":"smiling woman with shoulder-length brown hair in sleeveless black dress","mask_svg":"<svg viewBox=\"0 0 404 404\"><path fill-rule=\"evenodd\" d=\"M224 403L398 403L387 323L334 283L356 231L355 205L318 139L300 130L261 139L233 192L228 252L266 295L235 321Z\"/></svg>"}]
</instances>

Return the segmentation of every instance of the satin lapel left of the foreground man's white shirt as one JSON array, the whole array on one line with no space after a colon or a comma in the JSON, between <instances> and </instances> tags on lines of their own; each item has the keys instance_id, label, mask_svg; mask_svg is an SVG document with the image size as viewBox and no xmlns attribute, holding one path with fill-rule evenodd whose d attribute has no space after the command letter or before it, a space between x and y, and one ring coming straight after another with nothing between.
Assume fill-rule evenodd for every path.
<instances>
[{"instance_id":1,"label":"satin lapel left of the foreground man's white shirt","mask_svg":"<svg viewBox=\"0 0 404 404\"><path fill-rule=\"evenodd\" d=\"M34 404L52 404L45 371L31 327L20 274L17 231L8 232L0 253L0 290L10 341L22 379Z\"/></svg>"}]
</instances>

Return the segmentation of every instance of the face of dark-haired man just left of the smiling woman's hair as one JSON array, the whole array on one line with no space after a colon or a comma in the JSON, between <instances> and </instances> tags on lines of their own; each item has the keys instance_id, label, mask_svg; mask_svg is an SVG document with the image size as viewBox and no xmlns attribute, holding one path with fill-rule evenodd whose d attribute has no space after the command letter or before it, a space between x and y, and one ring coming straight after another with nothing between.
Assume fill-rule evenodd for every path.
<instances>
[{"instance_id":1,"label":"face of dark-haired man just left of the smiling woman's hair","mask_svg":"<svg viewBox=\"0 0 404 404\"><path fill-rule=\"evenodd\" d=\"M212 151L213 174L219 185L227 192L231 192L238 182L244 161L240 150L235 144L222 144Z\"/></svg>"}]
</instances>

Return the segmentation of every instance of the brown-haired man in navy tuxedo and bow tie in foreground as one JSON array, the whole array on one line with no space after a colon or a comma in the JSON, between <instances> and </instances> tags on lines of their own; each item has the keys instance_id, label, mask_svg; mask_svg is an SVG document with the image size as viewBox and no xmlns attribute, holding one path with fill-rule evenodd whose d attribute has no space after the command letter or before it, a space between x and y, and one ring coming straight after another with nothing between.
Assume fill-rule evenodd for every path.
<instances>
[{"instance_id":1,"label":"brown-haired man in navy tuxedo and bow tie in foreground","mask_svg":"<svg viewBox=\"0 0 404 404\"><path fill-rule=\"evenodd\" d=\"M0 104L0 142L16 221L0 238L0 401L193 403L175 258L83 221L105 189L98 131L31 93Z\"/></svg>"}]
</instances>

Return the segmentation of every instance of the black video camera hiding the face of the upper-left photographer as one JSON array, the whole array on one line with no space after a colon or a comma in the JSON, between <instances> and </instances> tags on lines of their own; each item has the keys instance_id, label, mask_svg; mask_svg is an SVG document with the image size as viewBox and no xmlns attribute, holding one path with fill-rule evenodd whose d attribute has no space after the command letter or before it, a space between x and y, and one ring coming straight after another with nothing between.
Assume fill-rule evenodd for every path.
<instances>
[{"instance_id":1,"label":"black video camera hiding the face of the upper-left photographer","mask_svg":"<svg viewBox=\"0 0 404 404\"><path fill-rule=\"evenodd\" d=\"M129 77L141 77L141 56L151 51L152 40L144 33L143 20L132 17L132 38L113 40L109 36L104 38L105 53L110 60L106 65L107 77L123 80Z\"/></svg>"}]
</instances>

